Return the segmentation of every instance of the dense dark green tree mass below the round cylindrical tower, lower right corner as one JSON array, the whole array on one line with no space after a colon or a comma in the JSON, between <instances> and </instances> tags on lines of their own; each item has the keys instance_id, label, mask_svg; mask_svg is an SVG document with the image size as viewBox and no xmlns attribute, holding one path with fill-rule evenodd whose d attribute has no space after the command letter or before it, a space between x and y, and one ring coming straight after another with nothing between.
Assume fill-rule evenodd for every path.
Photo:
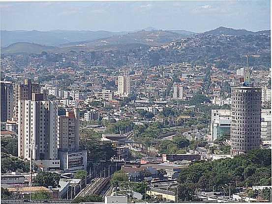
<instances>
[{"instance_id":1,"label":"dense dark green tree mass below the round cylindrical tower, lower right corner","mask_svg":"<svg viewBox=\"0 0 272 204\"><path fill-rule=\"evenodd\" d=\"M271 150L256 149L234 158L195 162L181 171L179 182L182 187L206 191L231 183L231 192L236 187L271 185Z\"/></svg>"}]
</instances>

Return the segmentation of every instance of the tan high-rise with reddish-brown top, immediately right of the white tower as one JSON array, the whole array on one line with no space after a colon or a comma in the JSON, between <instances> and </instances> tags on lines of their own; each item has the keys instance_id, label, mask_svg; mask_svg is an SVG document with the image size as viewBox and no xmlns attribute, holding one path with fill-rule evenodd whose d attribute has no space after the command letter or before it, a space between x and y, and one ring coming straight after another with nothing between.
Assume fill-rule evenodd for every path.
<instances>
[{"instance_id":1,"label":"tan high-rise with reddish-brown top, immediately right of the white tower","mask_svg":"<svg viewBox=\"0 0 272 204\"><path fill-rule=\"evenodd\" d=\"M78 150L79 147L79 109L66 111L58 116L58 148Z\"/></svg>"}]
</instances>

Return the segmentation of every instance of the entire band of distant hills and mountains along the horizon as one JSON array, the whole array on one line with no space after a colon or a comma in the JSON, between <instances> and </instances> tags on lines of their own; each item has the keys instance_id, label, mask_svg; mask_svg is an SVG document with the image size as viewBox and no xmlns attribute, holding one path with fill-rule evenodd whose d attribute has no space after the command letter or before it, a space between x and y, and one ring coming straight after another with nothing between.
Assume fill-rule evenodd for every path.
<instances>
[{"instance_id":1,"label":"entire band of distant hills and mountains along the horizon","mask_svg":"<svg viewBox=\"0 0 272 204\"><path fill-rule=\"evenodd\" d=\"M197 34L259 35L270 34L270 30L253 32L245 29L219 27L204 33L196 33L187 30L159 30L149 27L133 32L109 32L103 30L1 30L0 34L2 54L40 54L42 51L69 52L73 50L77 52L125 49L126 47L133 49L146 46L160 46Z\"/></svg>"}]
</instances>

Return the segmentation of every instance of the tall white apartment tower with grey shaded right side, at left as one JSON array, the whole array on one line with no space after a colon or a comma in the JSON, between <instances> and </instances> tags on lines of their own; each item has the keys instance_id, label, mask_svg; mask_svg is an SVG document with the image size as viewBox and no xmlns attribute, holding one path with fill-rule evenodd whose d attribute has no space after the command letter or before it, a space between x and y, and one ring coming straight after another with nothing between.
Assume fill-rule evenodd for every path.
<instances>
[{"instance_id":1,"label":"tall white apartment tower with grey shaded right side, at left","mask_svg":"<svg viewBox=\"0 0 272 204\"><path fill-rule=\"evenodd\" d=\"M58 158L58 103L33 93L31 100L20 100L18 107L18 156L30 160Z\"/></svg>"}]
</instances>

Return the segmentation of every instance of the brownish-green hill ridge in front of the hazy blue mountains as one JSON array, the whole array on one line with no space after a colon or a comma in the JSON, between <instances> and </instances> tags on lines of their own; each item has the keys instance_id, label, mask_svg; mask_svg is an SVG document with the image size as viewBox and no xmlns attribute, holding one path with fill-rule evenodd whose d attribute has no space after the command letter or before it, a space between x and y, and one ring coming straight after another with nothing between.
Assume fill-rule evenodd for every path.
<instances>
[{"instance_id":1,"label":"brownish-green hill ridge in front of the hazy blue mountains","mask_svg":"<svg viewBox=\"0 0 272 204\"><path fill-rule=\"evenodd\" d=\"M90 41L78 41L60 44L59 46L47 46L36 43L19 42L13 43L5 48L1 48L2 54L13 53L34 53L40 54L42 51L66 52L66 51L91 51L104 49L123 48L123 45L130 48L160 46L162 44L188 37L176 32L153 30L137 31L122 35L113 35L106 38L100 38Z\"/></svg>"}]
</instances>

